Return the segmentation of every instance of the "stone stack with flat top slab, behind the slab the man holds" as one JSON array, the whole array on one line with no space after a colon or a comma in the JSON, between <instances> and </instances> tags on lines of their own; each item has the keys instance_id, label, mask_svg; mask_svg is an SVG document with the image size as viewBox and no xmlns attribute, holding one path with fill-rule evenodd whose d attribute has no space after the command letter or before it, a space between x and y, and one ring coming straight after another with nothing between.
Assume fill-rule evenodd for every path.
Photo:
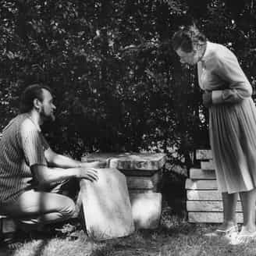
<instances>
[{"instance_id":1,"label":"stone stack with flat top slab, behind the slab the man holds","mask_svg":"<svg viewBox=\"0 0 256 256\"><path fill-rule=\"evenodd\" d=\"M165 154L94 153L84 156L81 160L106 162L105 168L118 169L122 172L126 176L135 227L137 229L158 227L162 213L162 194L159 193L159 185L166 162Z\"/></svg>"}]
</instances>

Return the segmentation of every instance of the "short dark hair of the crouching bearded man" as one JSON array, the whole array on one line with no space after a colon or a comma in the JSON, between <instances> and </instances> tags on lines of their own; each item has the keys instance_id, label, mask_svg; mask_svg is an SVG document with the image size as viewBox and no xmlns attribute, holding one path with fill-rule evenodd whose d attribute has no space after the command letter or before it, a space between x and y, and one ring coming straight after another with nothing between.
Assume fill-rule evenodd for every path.
<instances>
[{"instance_id":1,"label":"short dark hair of the crouching bearded man","mask_svg":"<svg viewBox=\"0 0 256 256\"><path fill-rule=\"evenodd\" d=\"M50 87L44 84L31 84L21 94L20 98L20 112L30 112L34 107L34 99L37 98L39 101L43 101L43 89L50 91Z\"/></svg>"}]
</instances>

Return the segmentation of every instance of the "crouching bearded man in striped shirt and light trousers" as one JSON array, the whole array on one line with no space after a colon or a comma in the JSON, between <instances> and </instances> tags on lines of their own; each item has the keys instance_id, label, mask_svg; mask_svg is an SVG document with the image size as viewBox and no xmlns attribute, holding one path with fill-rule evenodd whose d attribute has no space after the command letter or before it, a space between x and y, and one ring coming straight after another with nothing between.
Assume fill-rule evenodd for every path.
<instances>
[{"instance_id":1,"label":"crouching bearded man in striped shirt and light trousers","mask_svg":"<svg viewBox=\"0 0 256 256\"><path fill-rule=\"evenodd\" d=\"M0 214L34 226L73 218L75 202L57 194L73 178L98 180L99 162L79 162L56 154L40 126L54 121L51 90L30 85L21 96L21 114L4 128L0 140Z\"/></svg>"}]
</instances>

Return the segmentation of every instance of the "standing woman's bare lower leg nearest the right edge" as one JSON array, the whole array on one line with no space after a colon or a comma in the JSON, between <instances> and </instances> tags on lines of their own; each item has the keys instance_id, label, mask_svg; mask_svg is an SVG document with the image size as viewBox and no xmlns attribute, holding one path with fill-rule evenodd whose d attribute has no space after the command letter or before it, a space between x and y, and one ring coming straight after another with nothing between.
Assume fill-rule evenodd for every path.
<instances>
[{"instance_id":1,"label":"standing woman's bare lower leg nearest the right edge","mask_svg":"<svg viewBox=\"0 0 256 256\"><path fill-rule=\"evenodd\" d=\"M240 192L244 211L244 226L240 232L241 235L247 235L256 231L255 226L255 202L256 189Z\"/></svg>"}]
</instances>

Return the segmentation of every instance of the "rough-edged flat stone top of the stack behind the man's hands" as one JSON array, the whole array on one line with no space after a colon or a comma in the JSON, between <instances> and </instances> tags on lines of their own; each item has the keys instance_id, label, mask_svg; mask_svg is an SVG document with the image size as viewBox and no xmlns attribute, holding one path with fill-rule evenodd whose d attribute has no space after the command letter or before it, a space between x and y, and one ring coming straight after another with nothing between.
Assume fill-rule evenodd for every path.
<instances>
[{"instance_id":1,"label":"rough-edged flat stone top of the stack behind the man's hands","mask_svg":"<svg viewBox=\"0 0 256 256\"><path fill-rule=\"evenodd\" d=\"M166 155L162 153L94 153L82 157L82 162L107 162L108 168L119 170L159 170L165 165Z\"/></svg>"}]
</instances>

